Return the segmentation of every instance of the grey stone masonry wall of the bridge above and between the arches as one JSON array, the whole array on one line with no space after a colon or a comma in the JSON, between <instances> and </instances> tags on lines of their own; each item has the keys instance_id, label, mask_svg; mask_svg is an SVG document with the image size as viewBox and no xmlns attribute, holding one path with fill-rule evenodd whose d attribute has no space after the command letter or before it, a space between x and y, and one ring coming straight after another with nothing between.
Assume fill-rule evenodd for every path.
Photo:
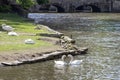
<instances>
[{"instance_id":1,"label":"grey stone masonry wall of the bridge above and between the arches","mask_svg":"<svg viewBox=\"0 0 120 80\"><path fill-rule=\"evenodd\" d=\"M120 0L49 0L50 4L57 3L69 12L70 5L75 8L82 5L94 5L100 8L101 12L120 11Z\"/></svg>"}]
</instances>

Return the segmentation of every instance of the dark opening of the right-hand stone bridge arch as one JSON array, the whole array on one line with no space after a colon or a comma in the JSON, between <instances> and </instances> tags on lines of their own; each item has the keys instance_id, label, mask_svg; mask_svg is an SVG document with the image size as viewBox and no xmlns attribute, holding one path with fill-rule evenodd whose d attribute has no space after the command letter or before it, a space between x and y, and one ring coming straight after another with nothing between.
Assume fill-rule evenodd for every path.
<instances>
[{"instance_id":1,"label":"dark opening of the right-hand stone bridge arch","mask_svg":"<svg viewBox=\"0 0 120 80\"><path fill-rule=\"evenodd\" d=\"M82 5L76 8L77 12L101 12L101 9L96 5Z\"/></svg>"}]
</instances>

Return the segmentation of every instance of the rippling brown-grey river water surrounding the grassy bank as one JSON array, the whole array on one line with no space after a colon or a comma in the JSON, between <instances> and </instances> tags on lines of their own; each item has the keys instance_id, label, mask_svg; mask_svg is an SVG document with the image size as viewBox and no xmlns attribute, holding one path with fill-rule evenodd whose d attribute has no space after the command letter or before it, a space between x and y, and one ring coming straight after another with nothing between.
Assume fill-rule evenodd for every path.
<instances>
[{"instance_id":1,"label":"rippling brown-grey river water surrounding the grassy bank","mask_svg":"<svg viewBox=\"0 0 120 80\"><path fill-rule=\"evenodd\" d=\"M79 47L89 48L88 54L74 57L83 60L81 65L57 66L50 60L1 67L0 80L120 80L120 20L72 15L64 18L62 24L53 20L44 24L72 35Z\"/></svg>"}]
</instances>

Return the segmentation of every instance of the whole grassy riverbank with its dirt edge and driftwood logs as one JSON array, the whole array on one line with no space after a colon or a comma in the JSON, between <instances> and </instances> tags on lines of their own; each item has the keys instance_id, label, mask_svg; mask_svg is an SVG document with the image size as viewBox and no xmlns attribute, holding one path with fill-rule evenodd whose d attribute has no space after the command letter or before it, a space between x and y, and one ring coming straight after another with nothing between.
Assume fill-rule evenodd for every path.
<instances>
[{"instance_id":1,"label":"whole grassy riverbank with its dirt edge and driftwood logs","mask_svg":"<svg viewBox=\"0 0 120 80\"><path fill-rule=\"evenodd\" d=\"M3 15L3 14L1 14ZM20 20L18 20L19 18ZM17 15L5 14L0 17L0 24L7 24L15 28L19 36L8 36L5 31L0 33L0 65L16 66L26 63L40 62L49 59L55 59L63 54L81 54L87 51L87 48L72 49L71 45L60 44L62 33L54 31L44 25L34 25L32 21L22 19ZM31 38L35 44L25 44L24 40ZM71 40L71 39L69 39ZM69 41L67 41L69 42ZM62 46L64 45L63 48ZM69 49L70 48L70 49ZM76 52L76 54L75 54Z\"/></svg>"}]
</instances>

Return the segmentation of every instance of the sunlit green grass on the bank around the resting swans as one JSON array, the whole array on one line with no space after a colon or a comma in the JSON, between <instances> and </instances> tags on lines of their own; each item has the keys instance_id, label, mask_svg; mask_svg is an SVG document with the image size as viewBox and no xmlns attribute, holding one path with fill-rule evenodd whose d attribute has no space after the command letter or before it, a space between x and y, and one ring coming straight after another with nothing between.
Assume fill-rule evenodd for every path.
<instances>
[{"instance_id":1,"label":"sunlit green grass on the bank around the resting swans","mask_svg":"<svg viewBox=\"0 0 120 80\"><path fill-rule=\"evenodd\" d=\"M8 36L6 32L2 31L0 26L0 52L10 50L23 50L37 48L41 46L52 46L52 44L37 40L40 36L32 36L30 34L36 33L49 33L46 29L34 30L35 25L32 21L27 21L26 18L22 18L16 14L3 14L0 13L0 25L7 24L15 28L15 32L20 34L19 36ZM24 40L33 39L35 44L25 44Z\"/></svg>"}]
</instances>

